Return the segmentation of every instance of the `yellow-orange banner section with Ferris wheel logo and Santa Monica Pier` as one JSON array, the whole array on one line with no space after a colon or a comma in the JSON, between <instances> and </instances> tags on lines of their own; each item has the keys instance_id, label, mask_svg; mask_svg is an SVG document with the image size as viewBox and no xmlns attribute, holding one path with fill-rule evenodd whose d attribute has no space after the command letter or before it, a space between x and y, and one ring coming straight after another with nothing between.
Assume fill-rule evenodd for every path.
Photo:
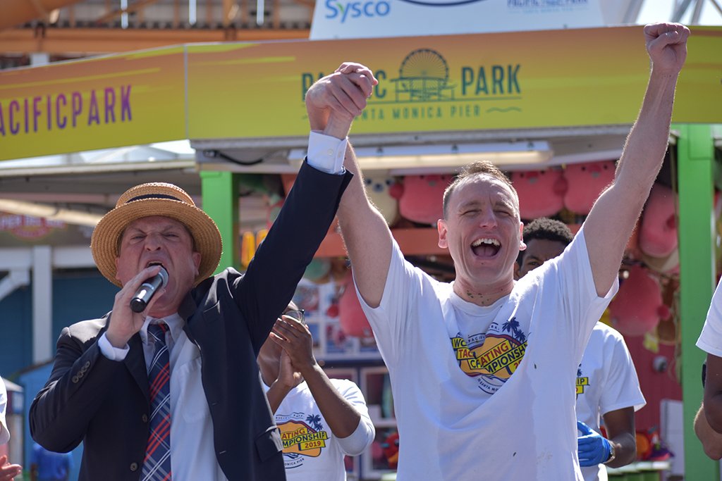
<instances>
[{"instance_id":1,"label":"yellow-orange banner section with Ferris wheel logo and Santa Monica Pier","mask_svg":"<svg viewBox=\"0 0 722 481\"><path fill-rule=\"evenodd\" d=\"M695 28L678 123L722 121L722 29ZM303 95L342 61L379 80L354 133L632 123L649 75L642 27L198 45L191 138L305 136Z\"/></svg>"}]
</instances>

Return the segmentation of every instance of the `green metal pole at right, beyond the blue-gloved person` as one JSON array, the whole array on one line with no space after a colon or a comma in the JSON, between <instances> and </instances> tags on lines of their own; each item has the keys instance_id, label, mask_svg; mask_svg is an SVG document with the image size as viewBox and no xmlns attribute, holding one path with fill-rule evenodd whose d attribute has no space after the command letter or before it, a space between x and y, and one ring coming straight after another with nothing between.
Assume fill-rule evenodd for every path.
<instances>
[{"instance_id":1,"label":"green metal pole at right, beyond the blue-gloved person","mask_svg":"<svg viewBox=\"0 0 722 481\"><path fill-rule=\"evenodd\" d=\"M695 436L694 419L702 402L700 370L705 353L695 346L712 299L715 279L713 216L713 139L710 125L678 125L679 285L682 329L684 478L719 480L719 464L709 459Z\"/></svg>"}]
</instances>

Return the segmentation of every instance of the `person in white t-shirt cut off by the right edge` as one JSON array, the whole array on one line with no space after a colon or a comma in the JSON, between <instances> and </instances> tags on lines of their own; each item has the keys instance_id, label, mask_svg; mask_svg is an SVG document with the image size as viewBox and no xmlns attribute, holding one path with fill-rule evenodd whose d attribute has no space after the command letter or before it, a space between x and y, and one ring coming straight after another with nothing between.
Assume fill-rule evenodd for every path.
<instances>
[{"instance_id":1,"label":"person in white t-shirt cut off by the right edge","mask_svg":"<svg viewBox=\"0 0 722 481\"><path fill-rule=\"evenodd\" d=\"M695 433L712 459L722 456L722 282L717 284L697 347L707 353L705 397L695 417Z\"/></svg>"}]
</instances>

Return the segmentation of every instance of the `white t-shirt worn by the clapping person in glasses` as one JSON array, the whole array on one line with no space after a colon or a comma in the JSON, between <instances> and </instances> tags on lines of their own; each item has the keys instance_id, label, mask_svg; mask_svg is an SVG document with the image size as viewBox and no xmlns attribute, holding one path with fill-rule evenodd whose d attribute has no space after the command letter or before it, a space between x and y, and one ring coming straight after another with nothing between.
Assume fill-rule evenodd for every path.
<instances>
[{"instance_id":1,"label":"white t-shirt worn by the clapping person in glasses","mask_svg":"<svg viewBox=\"0 0 722 481\"><path fill-rule=\"evenodd\" d=\"M308 384L302 382L291 389L275 415L289 481L345 480L344 455L357 456L373 442L375 430L361 390L347 379L331 379L331 384L361 415L359 427L347 438L336 438ZM264 389L268 391L268 387Z\"/></svg>"}]
</instances>

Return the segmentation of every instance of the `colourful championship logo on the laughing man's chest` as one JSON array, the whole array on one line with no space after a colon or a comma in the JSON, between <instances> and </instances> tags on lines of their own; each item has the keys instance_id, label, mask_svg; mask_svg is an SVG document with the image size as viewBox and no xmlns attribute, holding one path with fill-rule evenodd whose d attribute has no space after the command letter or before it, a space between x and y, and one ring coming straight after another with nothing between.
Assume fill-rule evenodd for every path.
<instances>
[{"instance_id":1,"label":"colourful championship logo on the laughing man's chest","mask_svg":"<svg viewBox=\"0 0 722 481\"><path fill-rule=\"evenodd\" d=\"M461 335L452 337L451 345L461 370L467 375L492 376L503 384L514 374L524 357L526 335L519 329L516 318L512 317L503 323L501 332L487 332L481 345L470 348Z\"/></svg>"}]
</instances>

